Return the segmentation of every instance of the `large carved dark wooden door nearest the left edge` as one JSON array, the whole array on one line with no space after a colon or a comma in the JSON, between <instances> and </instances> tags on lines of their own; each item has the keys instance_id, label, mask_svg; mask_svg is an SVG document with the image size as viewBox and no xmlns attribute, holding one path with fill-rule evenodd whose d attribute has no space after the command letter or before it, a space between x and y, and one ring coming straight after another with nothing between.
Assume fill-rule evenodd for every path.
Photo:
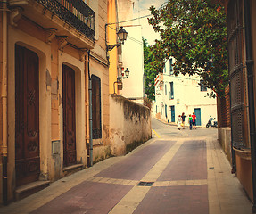
<instances>
[{"instance_id":1,"label":"large carved dark wooden door nearest the left edge","mask_svg":"<svg viewBox=\"0 0 256 214\"><path fill-rule=\"evenodd\" d=\"M15 46L16 186L38 180L39 78L37 53Z\"/></svg>"}]
</instances>

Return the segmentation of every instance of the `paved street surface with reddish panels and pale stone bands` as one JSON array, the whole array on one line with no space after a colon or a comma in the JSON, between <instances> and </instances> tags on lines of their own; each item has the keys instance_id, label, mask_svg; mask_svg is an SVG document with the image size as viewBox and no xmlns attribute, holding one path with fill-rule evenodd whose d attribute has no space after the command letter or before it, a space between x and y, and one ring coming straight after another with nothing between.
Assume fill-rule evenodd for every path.
<instances>
[{"instance_id":1,"label":"paved street surface with reddish panels and pale stone bands","mask_svg":"<svg viewBox=\"0 0 256 214\"><path fill-rule=\"evenodd\" d=\"M123 157L54 182L0 213L249 214L217 128L178 130L153 119L153 139Z\"/></svg>"}]
</instances>

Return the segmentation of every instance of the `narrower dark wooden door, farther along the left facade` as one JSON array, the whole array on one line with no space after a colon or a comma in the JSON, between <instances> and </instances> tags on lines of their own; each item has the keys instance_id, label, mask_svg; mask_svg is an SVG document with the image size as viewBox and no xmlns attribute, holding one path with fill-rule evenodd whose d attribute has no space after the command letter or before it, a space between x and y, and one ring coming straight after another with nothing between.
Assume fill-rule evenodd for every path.
<instances>
[{"instance_id":1,"label":"narrower dark wooden door, farther along the left facade","mask_svg":"<svg viewBox=\"0 0 256 214\"><path fill-rule=\"evenodd\" d=\"M76 164L75 71L62 66L63 90L63 164Z\"/></svg>"}]
</instances>

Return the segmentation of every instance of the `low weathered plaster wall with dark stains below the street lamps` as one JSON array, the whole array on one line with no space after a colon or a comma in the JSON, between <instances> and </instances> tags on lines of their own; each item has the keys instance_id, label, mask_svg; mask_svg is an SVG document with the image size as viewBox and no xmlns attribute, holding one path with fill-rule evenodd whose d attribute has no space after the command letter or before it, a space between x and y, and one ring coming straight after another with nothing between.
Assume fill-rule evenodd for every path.
<instances>
[{"instance_id":1,"label":"low weathered plaster wall with dark stains below the street lamps","mask_svg":"<svg viewBox=\"0 0 256 214\"><path fill-rule=\"evenodd\" d=\"M152 137L151 111L120 95L111 95L111 155L123 155Z\"/></svg>"}]
</instances>

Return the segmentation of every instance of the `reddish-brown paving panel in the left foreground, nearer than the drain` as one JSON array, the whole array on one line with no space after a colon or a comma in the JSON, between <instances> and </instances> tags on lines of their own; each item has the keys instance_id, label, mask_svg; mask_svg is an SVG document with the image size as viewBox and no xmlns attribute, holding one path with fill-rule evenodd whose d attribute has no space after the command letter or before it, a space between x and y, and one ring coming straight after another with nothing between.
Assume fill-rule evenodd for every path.
<instances>
[{"instance_id":1,"label":"reddish-brown paving panel in the left foreground, nearer than the drain","mask_svg":"<svg viewBox=\"0 0 256 214\"><path fill-rule=\"evenodd\" d=\"M31 214L108 213L132 186L83 182Z\"/></svg>"}]
</instances>

